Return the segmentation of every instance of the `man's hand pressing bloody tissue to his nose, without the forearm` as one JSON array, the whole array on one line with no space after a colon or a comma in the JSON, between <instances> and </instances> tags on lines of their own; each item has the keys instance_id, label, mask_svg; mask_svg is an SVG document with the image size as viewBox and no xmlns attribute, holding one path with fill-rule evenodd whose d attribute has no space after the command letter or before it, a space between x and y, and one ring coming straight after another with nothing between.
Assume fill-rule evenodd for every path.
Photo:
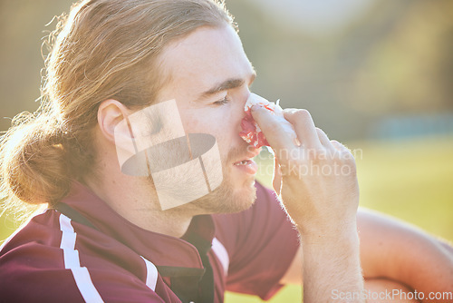
<instances>
[{"instance_id":1,"label":"man's hand pressing bloody tissue to his nose, without the forearm","mask_svg":"<svg viewBox=\"0 0 453 303\"><path fill-rule=\"evenodd\" d=\"M355 232L359 186L351 152L341 143L331 142L305 110L284 110L300 146L271 113L254 106L253 115L280 166L282 182L275 191L301 234L314 240Z\"/></svg>"}]
</instances>

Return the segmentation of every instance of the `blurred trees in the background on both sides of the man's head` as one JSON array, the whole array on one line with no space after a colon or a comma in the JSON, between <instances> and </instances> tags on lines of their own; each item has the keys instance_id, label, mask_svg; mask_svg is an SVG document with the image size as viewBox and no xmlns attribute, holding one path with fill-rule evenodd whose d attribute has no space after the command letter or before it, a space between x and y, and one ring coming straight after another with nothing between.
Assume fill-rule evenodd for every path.
<instances>
[{"instance_id":1,"label":"blurred trees in the background on both sides of the man's head","mask_svg":"<svg viewBox=\"0 0 453 303\"><path fill-rule=\"evenodd\" d=\"M55 22L44 24L71 4L0 2L0 117L37 108L42 37ZM255 93L281 99L284 107L308 109L331 137L365 138L375 122L394 112L453 112L450 0L376 0L349 26L318 35L259 1L226 0L226 5L259 75ZM0 120L0 130L9 125Z\"/></svg>"}]
</instances>

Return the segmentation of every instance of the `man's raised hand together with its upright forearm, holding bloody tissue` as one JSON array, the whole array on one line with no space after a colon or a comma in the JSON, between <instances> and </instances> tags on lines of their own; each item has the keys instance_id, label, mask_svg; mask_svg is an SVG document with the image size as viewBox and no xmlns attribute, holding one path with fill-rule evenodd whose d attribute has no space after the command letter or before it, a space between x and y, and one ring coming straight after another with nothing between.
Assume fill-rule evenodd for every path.
<instances>
[{"instance_id":1,"label":"man's raised hand together with its upright forearm, holding bloody tissue","mask_svg":"<svg viewBox=\"0 0 453 303\"><path fill-rule=\"evenodd\" d=\"M351 152L330 141L305 110L284 110L302 144L294 143L275 115L258 106L252 114L275 152L275 191L304 243L304 301L332 301L333 293L350 293L358 296L349 301L360 302L359 187Z\"/></svg>"}]
</instances>

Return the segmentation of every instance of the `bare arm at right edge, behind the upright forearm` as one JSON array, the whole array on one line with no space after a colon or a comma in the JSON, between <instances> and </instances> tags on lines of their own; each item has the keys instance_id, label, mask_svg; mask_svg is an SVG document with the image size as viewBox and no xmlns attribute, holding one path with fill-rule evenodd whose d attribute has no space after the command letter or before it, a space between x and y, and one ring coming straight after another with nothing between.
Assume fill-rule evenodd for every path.
<instances>
[{"instance_id":1,"label":"bare arm at right edge, behind the upright forearm","mask_svg":"<svg viewBox=\"0 0 453 303\"><path fill-rule=\"evenodd\" d=\"M453 289L451 247L410 224L360 210L361 264L365 277L400 281L419 292Z\"/></svg>"}]
</instances>

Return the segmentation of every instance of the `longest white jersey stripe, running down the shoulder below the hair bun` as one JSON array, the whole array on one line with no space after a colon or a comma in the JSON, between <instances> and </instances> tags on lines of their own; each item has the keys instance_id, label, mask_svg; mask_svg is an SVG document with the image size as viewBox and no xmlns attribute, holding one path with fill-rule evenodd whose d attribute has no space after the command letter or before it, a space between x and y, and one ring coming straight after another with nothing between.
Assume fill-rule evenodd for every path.
<instances>
[{"instance_id":1,"label":"longest white jersey stripe, running down the shoulder below the hair bun","mask_svg":"<svg viewBox=\"0 0 453 303\"><path fill-rule=\"evenodd\" d=\"M60 230L63 233L60 249L63 249L64 268L71 269L75 284L85 302L103 302L98 290L92 284L88 269L81 267L79 251L75 249L77 234L72 228L71 219L63 214L60 215Z\"/></svg>"}]
</instances>

